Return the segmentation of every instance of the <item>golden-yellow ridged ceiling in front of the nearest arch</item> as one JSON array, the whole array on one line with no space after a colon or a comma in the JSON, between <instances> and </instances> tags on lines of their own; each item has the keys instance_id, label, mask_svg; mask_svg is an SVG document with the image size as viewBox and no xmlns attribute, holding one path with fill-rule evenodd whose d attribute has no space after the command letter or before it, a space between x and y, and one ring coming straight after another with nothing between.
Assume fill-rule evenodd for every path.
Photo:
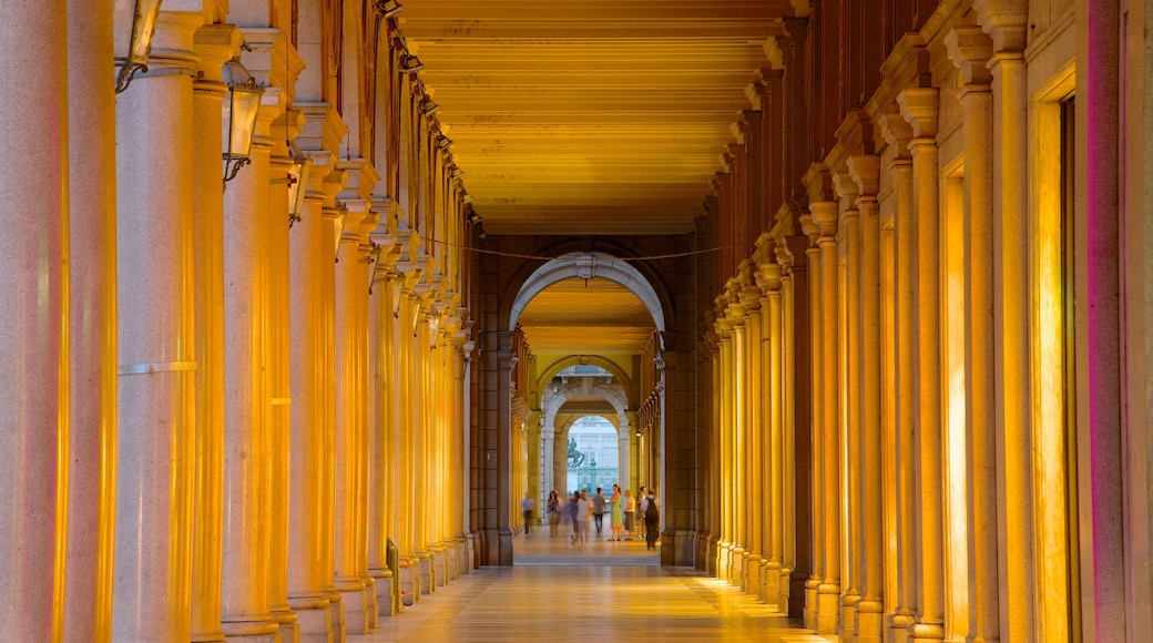
<instances>
[{"instance_id":1,"label":"golden-yellow ridged ceiling in front of the nearest arch","mask_svg":"<svg viewBox=\"0 0 1153 643\"><path fill-rule=\"evenodd\" d=\"M807 3L807 2L805 2ZM405 0L489 234L693 229L790 0Z\"/></svg>"}]
</instances>

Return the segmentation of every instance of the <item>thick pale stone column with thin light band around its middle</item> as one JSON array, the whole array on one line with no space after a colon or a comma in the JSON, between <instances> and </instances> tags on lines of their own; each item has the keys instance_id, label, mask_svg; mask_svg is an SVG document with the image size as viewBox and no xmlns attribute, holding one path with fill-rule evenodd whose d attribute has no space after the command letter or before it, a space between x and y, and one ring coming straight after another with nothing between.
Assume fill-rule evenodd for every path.
<instances>
[{"instance_id":1,"label":"thick pale stone column with thin light band around its middle","mask_svg":"<svg viewBox=\"0 0 1153 643\"><path fill-rule=\"evenodd\" d=\"M193 39L203 22L199 12L163 12L150 73L137 75L116 98L120 426L113 641L191 636L197 369L191 76ZM36 32L50 32L45 24L40 22ZM2 41L21 40L6 37ZM29 47L28 53L36 52ZM38 77L55 76L44 73L43 60L51 58L36 63ZM32 85L22 81L20 86ZM36 112L47 112L47 107L42 104ZM35 131L32 123L29 128ZM18 198L9 197L6 203L18 203ZM50 228L42 224L42 229ZM31 318L25 316L24 322ZM38 355L47 362L45 356L52 353ZM27 387L24 381L10 389Z\"/></svg>"}]
</instances>

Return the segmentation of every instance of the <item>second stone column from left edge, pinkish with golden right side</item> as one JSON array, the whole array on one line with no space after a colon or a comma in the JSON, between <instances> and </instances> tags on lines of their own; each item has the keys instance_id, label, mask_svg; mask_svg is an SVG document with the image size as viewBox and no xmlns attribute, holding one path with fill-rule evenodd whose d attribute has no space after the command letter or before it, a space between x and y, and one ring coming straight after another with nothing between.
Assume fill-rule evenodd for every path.
<instances>
[{"instance_id":1,"label":"second stone column from left edge, pinkish with golden right side","mask_svg":"<svg viewBox=\"0 0 1153 643\"><path fill-rule=\"evenodd\" d=\"M37 29L42 40L47 41L45 45L59 46L54 39L43 38L44 28L55 27L44 24ZM69 271L67 290L60 288L54 293L67 295L70 309L67 335L69 426L65 433L68 440L67 574L65 587L55 588L63 591L66 641L107 641L112 636L113 500L116 482L116 103L113 83L108 82L108 61L114 56L112 33L112 2L68 2L68 225L61 229L68 233L66 256ZM2 37L13 36L3 33ZM55 62L53 60L48 65ZM38 62L40 73L42 65L44 61ZM58 71L53 69L48 73ZM44 103L38 101L37 105ZM42 113L46 116L53 112L44 109ZM25 127L21 122L12 124ZM48 166L30 167L44 171ZM43 180L59 180L59 169L53 167L44 172ZM12 182L10 176L5 176L5 180ZM35 181L28 181L28 184L33 186ZM59 203L50 203L45 207L56 205ZM17 206L17 211L21 207ZM39 224L58 215L46 211L29 218ZM3 229L14 239L30 239L23 236L25 230L13 227L9 221L5 224ZM45 233L60 232L58 224L46 226ZM15 249L5 248L3 251L7 254ZM14 256L20 256L20 252ZM16 278L28 278L27 273L5 267ZM6 310L15 311L17 308L14 304L7 298L0 303ZM12 323L7 318L5 322ZM31 355L39 354L33 351ZM50 365L52 360L45 360L44 366ZM24 386L29 384L25 381ZM23 394L28 388L21 391ZM6 400L5 408L13 408L8 403ZM45 409L52 408L54 404L45 406ZM0 419L0 426L8 429L3 419ZM45 449L45 454L48 453ZM5 455L8 457L6 462L17 462L12 459L13 454ZM12 485L5 489L9 493L23 493ZM58 520L63 519L60 516ZM5 534L15 534L13 527L5 523ZM0 622L7 626L10 621ZM18 637L15 633L14 636ZM23 638L35 636L24 633Z\"/></svg>"}]
</instances>

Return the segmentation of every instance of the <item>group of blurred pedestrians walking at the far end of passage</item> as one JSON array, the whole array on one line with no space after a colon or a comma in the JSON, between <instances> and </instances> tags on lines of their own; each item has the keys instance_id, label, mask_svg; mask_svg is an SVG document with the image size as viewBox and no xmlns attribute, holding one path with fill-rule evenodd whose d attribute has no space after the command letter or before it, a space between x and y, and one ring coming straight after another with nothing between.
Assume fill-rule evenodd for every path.
<instances>
[{"instance_id":1,"label":"group of blurred pedestrians walking at the far end of passage","mask_svg":"<svg viewBox=\"0 0 1153 643\"><path fill-rule=\"evenodd\" d=\"M560 532L560 524L567 520L572 524L572 544L574 546L587 545L591 539L593 529L596 529L596 538L601 539L604 532L604 514L609 514L609 537L610 543L632 540L633 535L643 535L649 550L656 549L656 540L661 531L661 508L655 490L647 493L641 487L639 494L640 502L633 497L631 490L620 491L620 485L612 485L612 494L604 497L601 487L596 487L596 493L589 497L588 491L574 492L567 501L562 501L556 491L549 493L545 502L545 510L549 516L549 532L557 536ZM530 498L526 496L526 501ZM521 508L526 505L522 504ZM526 523L532 515L532 507L526 509ZM638 523L642 525L636 529ZM528 528L525 528L526 534Z\"/></svg>"}]
</instances>

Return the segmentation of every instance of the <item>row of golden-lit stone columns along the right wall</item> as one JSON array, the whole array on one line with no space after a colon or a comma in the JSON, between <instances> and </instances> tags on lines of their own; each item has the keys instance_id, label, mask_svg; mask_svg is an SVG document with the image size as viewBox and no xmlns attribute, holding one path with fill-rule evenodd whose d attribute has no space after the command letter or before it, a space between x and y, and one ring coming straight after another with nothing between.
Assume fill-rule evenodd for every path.
<instances>
[{"instance_id":1,"label":"row of golden-lit stone columns along the right wall","mask_svg":"<svg viewBox=\"0 0 1153 643\"><path fill-rule=\"evenodd\" d=\"M1108 611L1078 596L1086 565L1125 584L1078 554L1122 542L1078 519L1093 485L1071 333L1095 335L1054 300L1088 296L1078 271L1109 260L1071 245L1100 234L1069 191L1091 189L1071 134L1086 122L1058 107L1084 59L1071 22L1038 40L1030 15L941 3L905 35L713 301L719 512L698 565L841 641L1072 640ZM1026 62L1031 41L1049 45ZM716 211L737 221L768 198L748 172L789 166L744 131L769 157L728 154ZM1099 640L1123 636L1103 622Z\"/></svg>"}]
</instances>

